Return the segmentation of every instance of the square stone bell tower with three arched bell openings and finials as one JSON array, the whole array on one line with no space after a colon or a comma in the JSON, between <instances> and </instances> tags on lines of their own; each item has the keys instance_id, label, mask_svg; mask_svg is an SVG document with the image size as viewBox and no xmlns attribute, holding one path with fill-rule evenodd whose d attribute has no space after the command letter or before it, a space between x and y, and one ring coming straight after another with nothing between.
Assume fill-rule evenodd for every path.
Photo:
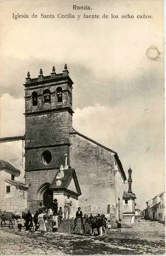
<instances>
[{"instance_id":1,"label":"square stone bell tower with three arched bell openings and finials","mask_svg":"<svg viewBox=\"0 0 166 256\"><path fill-rule=\"evenodd\" d=\"M72 84L67 65L48 76L40 69L37 78L27 72L25 87L25 184L29 186L27 207L42 201L43 184L51 184L68 155L69 129L72 126ZM40 187L43 185L41 195Z\"/></svg>"}]
</instances>

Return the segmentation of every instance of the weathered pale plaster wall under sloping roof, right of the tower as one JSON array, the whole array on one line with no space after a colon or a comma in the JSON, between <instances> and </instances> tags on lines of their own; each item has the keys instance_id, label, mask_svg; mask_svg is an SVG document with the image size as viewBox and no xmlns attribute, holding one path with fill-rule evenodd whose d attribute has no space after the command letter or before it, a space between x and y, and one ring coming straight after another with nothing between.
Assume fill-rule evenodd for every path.
<instances>
[{"instance_id":1,"label":"weathered pale plaster wall under sloping roof, right of the tower","mask_svg":"<svg viewBox=\"0 0 166 256\"><path fill-rule=\"evenodd\" d=\"M83 214L105 213L115 205L114 154L77 134L70 134L70 165L75 168Z\"/></svg>"}]
</instances>

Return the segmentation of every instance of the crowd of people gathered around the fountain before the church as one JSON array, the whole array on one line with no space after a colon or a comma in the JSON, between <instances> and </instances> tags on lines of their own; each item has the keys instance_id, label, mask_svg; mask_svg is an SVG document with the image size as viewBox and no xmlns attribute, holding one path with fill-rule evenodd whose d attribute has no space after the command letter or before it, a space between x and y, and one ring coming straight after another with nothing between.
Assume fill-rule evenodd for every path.
<instances>
[{"instance_id":1,"label":"crowd of people gathered around the fountain before the church","mask_svg":"<svg viewBox=\"0 0 166 256\"><path fill-rule=\"evenodd\" d=\"M65 206L64 206L64 219L66 219L66 215L68 212L68 219L70 218L70 211L71 211L72 201L70 200L70 195L67 197ZM58 210L59 209L59 210ZM62 207L58 207L57 199L53 200L52 208L49 206L46 208L42 203L40 203L38 210L36 210L35 215L31 214L30 210L22 212L22 216L19 216L17 219L18 224L18 231L21 231L22 227L25 227L25 230L30 230L31 232L34 231L46 231L46 223L47 227L50 226L52 228L52 232L56 232L58 230L58 225L61 224L63 219L63 211ZM83 230L84 234L90 234L92 231L92 235L96 234L98 236L103 236L106 234L106 231L110 230L111 222L107 220L105 215L96 215L93 216L90 214L84 215L82 214L81 208L78 207L76 211L76 216L74 219L74 228L77 226L77 221L80 219L81 223L81 230ZM119 219L116 221L117 223L117 231L121 232L121 222L122 220ZM86 225L89 224L89 225Z\"/></svg>"}]
</instances>

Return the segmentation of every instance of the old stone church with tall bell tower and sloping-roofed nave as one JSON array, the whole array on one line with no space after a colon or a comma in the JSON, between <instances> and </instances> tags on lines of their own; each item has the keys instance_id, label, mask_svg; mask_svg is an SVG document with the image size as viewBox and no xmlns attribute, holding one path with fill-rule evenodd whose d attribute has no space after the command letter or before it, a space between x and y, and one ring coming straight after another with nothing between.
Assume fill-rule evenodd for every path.
<instances>
[{"instance_id":1,"label":"old stone church with tall bell tower and sloping-roofed nave","mask_svg":"<svg viewBox=\"0 0 166 256\"><path fill-rule=\"evenodd\" d=\"M0 138L0 145L1 153L5 147L10 148L10 143L20 147L20 182L27 193L26 209L35 212L40 202L47 207L53 199L64 208L70 195L73 217L80 206L84 214L133 218L136 197L131 191L131 169L127 193L126 175L118 154L72 126L73 81L67 65L62 73L56 73L53 67L47 76L40 69L37 78L31 78L28 72L23 86L25 135ZM6 158L14 165L14 153Z\"/></svg>"}]
</instances>

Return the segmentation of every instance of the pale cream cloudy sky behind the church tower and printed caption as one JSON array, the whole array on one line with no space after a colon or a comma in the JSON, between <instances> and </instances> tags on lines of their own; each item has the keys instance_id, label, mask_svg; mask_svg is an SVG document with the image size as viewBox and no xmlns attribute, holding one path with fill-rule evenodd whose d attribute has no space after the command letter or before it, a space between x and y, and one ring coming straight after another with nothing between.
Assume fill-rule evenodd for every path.
<instances>
[{"instance_id":1,"label":"pale cream cloudy sky behind the church tower and printed caption","mask_svg":"<svg viewBox=\"0 0 166 256\"><path fill-rule=\"evenodd\" d=\"M72 10L73 5L92 10ZM136 207L145 208L164 190L162 1L1 1L0 8L0 136L25 132L27 71L31 78L40 68L43 75L52 66L61 73L67 63L74 129L116 151L126 176L131 166ZM13 19L13 13L29 18ZM39 18L31 18L33 13ZM41 13L54 18L42 19ZM57 18L58 13L100 18ZM121 18L127 14L134 18ZM136 18L143 14L153 18Z\"/></svg>"}]
</instances>

